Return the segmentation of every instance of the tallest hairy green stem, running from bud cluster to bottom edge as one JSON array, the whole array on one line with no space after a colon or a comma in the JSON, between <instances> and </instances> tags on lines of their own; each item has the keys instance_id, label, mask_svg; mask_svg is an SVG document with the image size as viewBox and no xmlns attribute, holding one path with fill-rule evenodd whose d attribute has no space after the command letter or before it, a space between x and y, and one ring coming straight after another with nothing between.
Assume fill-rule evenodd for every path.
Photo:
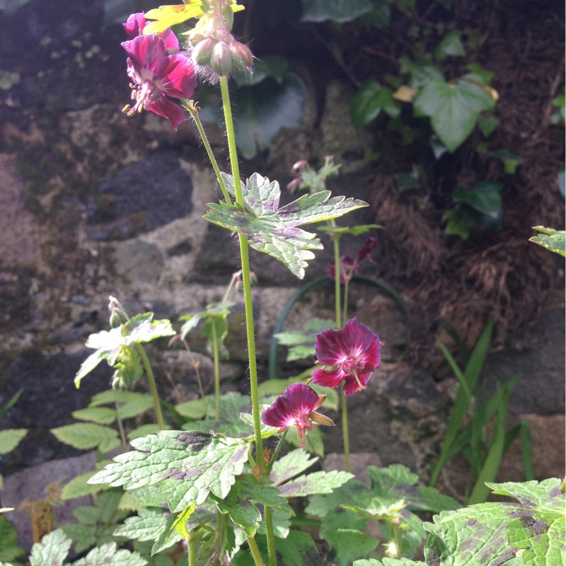
<instances>
[{"instance_id":1,"label":"tallest hairy green stem, running from bud cluster to bottom edge","mask_svg":"<svg viewBox=\"0 0 566 566\"><path fill-rule=\"evenodd\" d=\"M228 79L220 77L220 89L222 93L222 104L224 107L224 122L226 123L226 137L230 152L230 166L236 193L236 203L244 206L242 185L240 180L240 168L238 166L238 154L236 152L236 137L232 120L232 108L230 105L230 93ZM250 254L248 248L248 236L239 233L240 257L242 262L242 287L244 296L244 310L246 311L246 335L248 338L248 359L250 364L250 399L252 403L253 434L255 438L255 459L260 466L263 475L268 475L267 462L263 458L263 443L261 438L260 420L260 398L258 393L258 364L255 359L255 334L253 329L253 305L252 285L250 277ZM270 566L277 566L275 555L275 537L273 536L273 521L270 507L265 507L265 531L267 534L267 553L270 558Z\"/></svg>"}]
</instances>

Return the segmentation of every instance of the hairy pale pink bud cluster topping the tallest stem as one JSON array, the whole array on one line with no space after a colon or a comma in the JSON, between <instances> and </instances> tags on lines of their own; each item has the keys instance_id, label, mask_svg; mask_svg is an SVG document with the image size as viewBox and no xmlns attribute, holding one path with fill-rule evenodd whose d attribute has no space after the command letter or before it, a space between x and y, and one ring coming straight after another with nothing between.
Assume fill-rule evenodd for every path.
<instances>
[{"instance_id":1,"label":"hairy pale pink bud cluster topping the tallest stem","mask_svg":"<svg viewBox=\"0 0 566 566\"><path fill-rule=\"evenodd\" d=\"M231 6L213 6L187 35L192 47L192 60L198 67L208 67L218 76L234 71L252 74L253 55L246 45L231 34Z\"/></svg>"}]
</instances>

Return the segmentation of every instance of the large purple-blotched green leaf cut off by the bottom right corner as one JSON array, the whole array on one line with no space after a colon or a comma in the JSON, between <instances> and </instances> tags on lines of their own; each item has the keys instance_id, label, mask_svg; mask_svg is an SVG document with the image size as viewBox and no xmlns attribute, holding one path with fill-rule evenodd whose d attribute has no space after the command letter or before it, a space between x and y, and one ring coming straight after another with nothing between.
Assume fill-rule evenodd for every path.
<instances>
[{"instance_id":1,"label":"large purple-blotched green leaf cut off by the bottom right corner","mask_svg":"<svg viewBox=\"0 0 566 566\"><path fill-rule=\"evenodd\" d=\"M430 533L425 561L434 557L439 566L563 564L566 506L560 480L488 485L515 501L472 505L434 516L434 524L425 524Z\"/></svg>"}]
</instances>

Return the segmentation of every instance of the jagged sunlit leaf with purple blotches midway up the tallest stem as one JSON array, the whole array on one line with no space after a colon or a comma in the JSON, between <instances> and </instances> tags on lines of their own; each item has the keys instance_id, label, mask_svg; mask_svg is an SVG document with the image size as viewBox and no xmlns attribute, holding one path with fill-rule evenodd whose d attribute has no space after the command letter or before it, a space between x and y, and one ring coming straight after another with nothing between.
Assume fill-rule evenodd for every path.
<instances>
[{"instance_id":1,"label":"jagged sunlit leaf with purple blotches midway up the tallest stem","mask_svg":"<svg viewBox=\"0 0 566 566\"><path fill-rule=\"evenodd\" d=\"M233 178L224 175L231 192ZM299 226L342 216L352 210L366 207L362 200L330 197L330 191L303 195L279 208L281 190L277 181L254 173L242 187L246 207L238 204L209 204L204 216L213 224L248 236L252 248L271 255L283 262L299 279L305 275L307 260L314 258L311 250L322 249L315 234L301 230Z\"/></svg>"}]
</instances>

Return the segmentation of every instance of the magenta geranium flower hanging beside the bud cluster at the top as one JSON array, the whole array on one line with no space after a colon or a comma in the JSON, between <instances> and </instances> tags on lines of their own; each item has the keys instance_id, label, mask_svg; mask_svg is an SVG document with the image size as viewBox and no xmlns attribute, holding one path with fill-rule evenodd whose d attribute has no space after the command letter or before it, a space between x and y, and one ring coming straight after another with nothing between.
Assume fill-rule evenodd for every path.
<instances>
[{"instance_id":1,"label":"magenta geranium flower hanging beside the bud cluster at the top","mask_svg":"<svg viewBox=\"0 0 566 566\"><path fill-rule=\"evenodd\" d=\"M190 59L179 53L171 54L163 37L138 35L125 41L122 47L128 54L128 75L133 81L132 98L135 105L127 105L128 116L141 110L151 110L171 120L173 129L185 120L183 110L167 98L190 98L197 86L195 68Z\"/></svg>"}]
</instances>

